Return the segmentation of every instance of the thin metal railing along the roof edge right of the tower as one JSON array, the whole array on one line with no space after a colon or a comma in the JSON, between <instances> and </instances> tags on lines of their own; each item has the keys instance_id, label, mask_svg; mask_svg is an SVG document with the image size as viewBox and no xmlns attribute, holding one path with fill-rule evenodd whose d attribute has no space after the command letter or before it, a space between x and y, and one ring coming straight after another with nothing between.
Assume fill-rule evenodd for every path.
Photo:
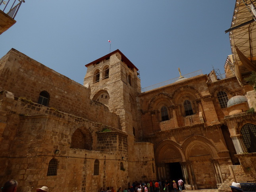
<instances>
[{"instance_id":1,"label":"thin metal railing along the roof edge right of the tower","mask_svg":"<svg viewBox=\"0 0 256 192\"><path fill-rule=\"evenodd\" d=\"M188 74L182 75L182 76L185 77L185 78L191 78L191 77L195 77L197 75L202 75L202 74L203 74L202 70L198 70L198 71L194 71L192 73L188 73ZM177 81L178 79L179 79L179 77L176 77L174 79L170 79L170 80L167 80L167 81L164 81L164 82L161 82L161 83L157 83L157 84L142 88L141 92L146 92L146 91L153 90L153 89L156 89L156 88L159 88L159 87L162 87L162 86L166 86L168 84L175 83L175 81Z\"/></svg>"}]
</instances>

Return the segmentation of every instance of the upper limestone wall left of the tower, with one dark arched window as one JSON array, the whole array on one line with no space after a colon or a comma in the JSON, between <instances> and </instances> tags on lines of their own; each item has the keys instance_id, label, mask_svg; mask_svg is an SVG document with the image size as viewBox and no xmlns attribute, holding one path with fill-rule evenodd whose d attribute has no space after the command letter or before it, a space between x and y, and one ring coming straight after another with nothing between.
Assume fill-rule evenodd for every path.
<instances>
[{"instance_id":1,"label":"upper limestone wall left of the tower, with one dark arched window","mask_svg":"<svg viewBox=\"0 0 256 192\"><path fill-rule=\"evenodd\" d=\"M0 61L0 90L6 89L34 103L41 91L50 94L49 107L114 127L118 118L108 108L90 100L90 89L56 71L10 50ZM111 117L111 118L110 118ZM114 124L113 124L114 122Z\"/></svg>"}]
</instances>

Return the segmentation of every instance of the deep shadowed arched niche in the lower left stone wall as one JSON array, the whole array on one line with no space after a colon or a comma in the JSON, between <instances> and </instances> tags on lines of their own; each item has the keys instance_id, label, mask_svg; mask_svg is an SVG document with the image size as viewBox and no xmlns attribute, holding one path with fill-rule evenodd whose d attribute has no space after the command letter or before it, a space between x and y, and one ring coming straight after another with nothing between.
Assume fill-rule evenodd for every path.
<instances>
[{"instance_id":1,"label":"deep shadowed arched niche in the lower left stone wall","mask_svg":"<svg viewBox=\"0 0 256 192\"><path fill-rule=\"evenodd\" d=\"M92 150L92 135L85 127L79 127L73 132L70 148Z\"/></svg>"}]
</instances>

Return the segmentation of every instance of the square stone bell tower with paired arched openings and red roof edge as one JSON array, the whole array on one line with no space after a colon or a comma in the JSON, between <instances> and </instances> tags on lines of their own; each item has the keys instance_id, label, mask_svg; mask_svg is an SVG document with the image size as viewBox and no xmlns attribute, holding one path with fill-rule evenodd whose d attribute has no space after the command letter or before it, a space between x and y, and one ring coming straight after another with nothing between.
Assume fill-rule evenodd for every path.
<instances>
[{"instance_id":1,"label":"square stone bell tower with paired arched openings and red roof edge","mask_svg":"<svg viewBox=\"0 0 256 192\"><path fill-rule=\"evenodd\" d=\"M85 66L84 86L90 87L90 98L119 115L119 129L137 138L141 126L138 102L141 81L137 67L119 50Z\"/></svg>"}]
</instances>

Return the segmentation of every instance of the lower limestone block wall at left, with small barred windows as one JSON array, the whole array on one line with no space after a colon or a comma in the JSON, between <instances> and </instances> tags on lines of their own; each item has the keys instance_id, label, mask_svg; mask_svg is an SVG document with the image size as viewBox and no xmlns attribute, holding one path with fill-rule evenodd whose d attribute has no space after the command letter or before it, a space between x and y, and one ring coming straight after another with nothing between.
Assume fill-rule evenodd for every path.
<instances>
[{"instance_id":1,"label":"lower limestone block wall at left, with small barred windows","mask_svg":"<svg viewBox=\"0 0 256 192\"><path fill-rule=\"evenodd\" d=\"M4 103L3 101L4 99L1 104ZM47 111L46 114L19 115L21 112L24 113L24 109L38 112L42 110L40 107ZM101 186L117 188L120 180L123 182L123 187L126 186L127 171L120 170L120 162L123 162L126 170L128 170L128 163L127 160L118 158L127 154L125 134L118 133L119 144L116 154L74 149L70 148L71 136L77 128L86 127L92 138L95 138L95 142L92 143L93 150L96 150L97 146L96 132L104 127L114 130L115 128L21 101L18 98L13 100L10 109L12 109L12 121L8 115L9 121L0 145L0 169L2 170L0 184L7 179L16 179L19 182L19 190L22 192L33 191L42 185L48 186L51 191L97 191ZM12 122L17 123L14 126ZM55 150L60 150L59 154L54 154ZM48 163L52 158L58 160L57 175L47 176ZM96 159L99 160L98 175L94 175L93 165Z\"/></svg>"}]
</instances>

